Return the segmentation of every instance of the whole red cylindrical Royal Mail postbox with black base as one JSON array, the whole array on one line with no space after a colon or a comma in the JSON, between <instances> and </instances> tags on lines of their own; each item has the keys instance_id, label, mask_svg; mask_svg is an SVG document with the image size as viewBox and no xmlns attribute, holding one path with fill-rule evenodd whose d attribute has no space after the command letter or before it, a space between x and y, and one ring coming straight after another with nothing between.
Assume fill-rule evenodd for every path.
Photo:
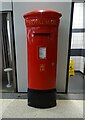
<instances>
[{"instance_id":1,"label":"whole red cylindrical Royal Mail postbox with black base","mask_svg":"<svg viewBox=\"0 0 85 120\"><path fill-rule=\"evenodd\" d=\"M28 105L56 106L58 26L61 14L38 10L24 15L27 33Z\"/></svg>"}]
</instances>

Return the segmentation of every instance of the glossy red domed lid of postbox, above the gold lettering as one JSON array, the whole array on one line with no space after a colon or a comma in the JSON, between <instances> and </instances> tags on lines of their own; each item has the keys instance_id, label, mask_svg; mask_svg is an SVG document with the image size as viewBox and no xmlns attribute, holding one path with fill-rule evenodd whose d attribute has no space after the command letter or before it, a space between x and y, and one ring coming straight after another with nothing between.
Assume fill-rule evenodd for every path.
<instances>
[{"instance_id":1,"label":"glossy red domed lid of postbox, above the gold lettering","mask_svg":"<svg viewBox=\"0 0 85 120\"><path fill-rule=\"evenodd\" d=\"M24 15L24 18L26 18L26 17L39 17L39 16L46 16L46 17L48 16L48 17L60 18L62 16L62 14L58 13L56 11L52 11L52 10L35 10L32 12L26 13Z\"/></svg>"}]
</instances>

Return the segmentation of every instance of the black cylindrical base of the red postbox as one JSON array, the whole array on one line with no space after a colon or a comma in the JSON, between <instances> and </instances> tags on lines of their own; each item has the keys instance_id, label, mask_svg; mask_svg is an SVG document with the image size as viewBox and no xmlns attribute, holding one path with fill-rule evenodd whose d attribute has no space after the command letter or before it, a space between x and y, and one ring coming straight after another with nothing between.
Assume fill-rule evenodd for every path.
<instances>
[{"instance_id":1,"label":"black cylindrical base of the red postbox","mask_svg":"<svg viewBox=\"0 0 85 120\"><path fill-rule=\"evenodd\" d=\"M51 108L56 106L56 89L28 89L28 105L36 108Z\"/></svg>"}]
</instances>

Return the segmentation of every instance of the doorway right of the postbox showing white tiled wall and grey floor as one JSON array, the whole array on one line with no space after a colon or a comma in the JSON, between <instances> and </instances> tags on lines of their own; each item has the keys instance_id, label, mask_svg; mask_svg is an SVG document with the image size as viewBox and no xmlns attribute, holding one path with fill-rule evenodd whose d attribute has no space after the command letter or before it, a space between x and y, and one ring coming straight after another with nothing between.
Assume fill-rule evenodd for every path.
<instances>
[{"instance_id":1,"label":"doorway right of the postbox showing white tiled wall and grey floor","mask_svg":"<svg viewBox=\"0 0 85 120\"><path fill-rule=\"evenodd\" d=\"M73 23L71 30L71 39L69 46L69 61L68 61L68 74L67 74L67 89L68 93L83 93L83 74L84 74L84 48L83 48L83 4L74 3L73 9ZM70 60L73 61L73 67L70 65ZM72 69L71 69L72 68ZM70 70L74 73L70 74Z\"/></svg>"}]
</instances>

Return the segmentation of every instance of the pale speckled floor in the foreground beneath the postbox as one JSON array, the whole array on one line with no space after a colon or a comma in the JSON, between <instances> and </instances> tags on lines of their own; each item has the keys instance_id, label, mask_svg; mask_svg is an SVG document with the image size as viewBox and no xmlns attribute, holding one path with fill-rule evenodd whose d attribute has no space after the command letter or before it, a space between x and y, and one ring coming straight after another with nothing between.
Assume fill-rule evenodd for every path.
<instances>
[{"instance_id":1,"label":"pale speckled floor in the foreground beneath the postbox","mask_svg":"<svg viewBox=\"0 0 85 120\"><path fill-rule=\"evenodd\" d=\"M0 99L3 118L83 118L83 100L57 100L57 106L37 109L27 99Z\"/></svg>"}]
</instances>

